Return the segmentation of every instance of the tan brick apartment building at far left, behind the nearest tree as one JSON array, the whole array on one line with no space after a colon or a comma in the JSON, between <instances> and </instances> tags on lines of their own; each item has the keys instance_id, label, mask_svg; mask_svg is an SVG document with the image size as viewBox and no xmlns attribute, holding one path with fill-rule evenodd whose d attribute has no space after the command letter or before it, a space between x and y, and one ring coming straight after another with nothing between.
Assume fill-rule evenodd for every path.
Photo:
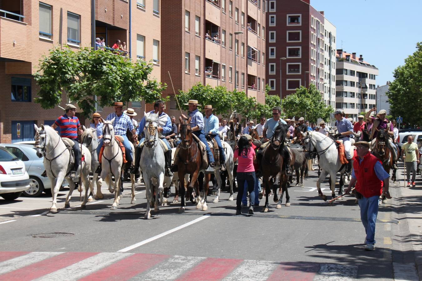
<instances>
[{"instance_id":1,"label":"tan brick apartment building at far left, behind the nearest tree","mask_svg":"<svg viewBox=\"0 0 422 281\"><path fill-rule=\"evenodd\" d=\"M158 80L160 8L160 0L95 1L95 37L104 37L107 46L125 42L133 61L154 62L151 76ZM67 45L76 51L92 45L91 12L88 0L0 1L0 142L31 140L34 124L52 124L63 114L59 107L43 110L34 102L39 88L32 75L51 48ZM65 95L62 100L64 106ZM144 110L140 102L129 106ZM97 111L106 116L114 109Z\"/></svg>"}]
</instances>

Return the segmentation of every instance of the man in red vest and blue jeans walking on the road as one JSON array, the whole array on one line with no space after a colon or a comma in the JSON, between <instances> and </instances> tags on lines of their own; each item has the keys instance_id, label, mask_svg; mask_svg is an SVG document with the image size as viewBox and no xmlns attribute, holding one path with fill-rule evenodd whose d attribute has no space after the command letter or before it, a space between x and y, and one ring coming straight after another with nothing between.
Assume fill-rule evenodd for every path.
<instances>
[{"instance_id":1,"label":"man in red vest and blue jeans walking on the road","mask_svg":"<svg viewBox=\"0 0 422 281\"><path fill-rule=\"evenodd\" d=\"M357 155L353 158L352 180L346 189L350 192L356 183L356 198L360 207L360 220L365 227L365 250L375 249L375 223L378 215L378 200L384 186L384 195L391 199L388 192L390 175L382 167L381 161L369 152L368 142L355 142Z\"/></svg>"}]
</instances>

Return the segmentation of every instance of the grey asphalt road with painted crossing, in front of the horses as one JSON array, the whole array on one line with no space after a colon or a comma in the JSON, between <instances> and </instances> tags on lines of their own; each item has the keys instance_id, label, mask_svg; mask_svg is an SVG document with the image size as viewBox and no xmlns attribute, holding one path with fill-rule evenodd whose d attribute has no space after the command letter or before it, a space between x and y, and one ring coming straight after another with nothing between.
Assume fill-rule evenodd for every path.
<instances>
[{"instance_id":1,"label":"grey asphalt road with painted crossing, in front of the horses","mask_svg":"<svg viewBox=\"0 0 422 281\"><path fill-rule=\"evenodd\" d=\"M137 184L137 203L132 205L128 183L116 211L110 210L114 195L107 188L103 200L88 203L84 210L77 207L77 192L71 208L60 209L64 190L57 214L46 213L51 206L46 195L0 202L0 274L9 274L8 279L23 276L38 259L46 269L30 279L78 280L92 274L103 280L101 276L114 276L122 268L116 279L391 280L394 254L403 250L404 235L392 202L380 206L376 250L368 252L363 249L365 230L354 198L346 196L328 206L314 190L316 180L316 171L311 171L305 187L289 188L291 206L276 209L271 198L268 213L261 212L261 201L254 215L243 208L243 214L235 216L235 201L222 193L219 203L208 196L208 211L189 202L185 213L178 214L180 204L169 203L144 220L144 186ZM394 186L391 201L400 195ZM328 182L322 187L330 197ZM63 263L53 262L56 259Z\"/></svg>"}]
</instances>

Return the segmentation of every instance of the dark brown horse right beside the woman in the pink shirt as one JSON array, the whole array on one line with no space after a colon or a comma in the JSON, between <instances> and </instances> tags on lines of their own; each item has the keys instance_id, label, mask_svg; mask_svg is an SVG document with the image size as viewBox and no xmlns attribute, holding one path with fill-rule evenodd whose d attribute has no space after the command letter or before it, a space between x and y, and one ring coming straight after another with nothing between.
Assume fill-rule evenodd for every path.
<instances>
[{"instance_id":1,"label":"dark brown horse right beside the woman in the pink shirt","mask_svg":"<svg viewBox=\"0 0 422 281\"><path fill-rule=\"evenodd\" d=\"M268 211L268 195L270 194L270 181L273 183L273 201L277 203L276 208L281 208L281 201L284 192L286 193L286 206L290 206L290 196L287 190L288 177L285 175L284 161L283 161L283 147L284 140L287 136L287 126L281 124L277 126L271 137L270 143L262 151L260 157L260 170L262 172L262 182L265 186L265 205L262 209L264 212ZM280 200L277 195L277 187L281 188Z\"/></svg>"}]
</instances>

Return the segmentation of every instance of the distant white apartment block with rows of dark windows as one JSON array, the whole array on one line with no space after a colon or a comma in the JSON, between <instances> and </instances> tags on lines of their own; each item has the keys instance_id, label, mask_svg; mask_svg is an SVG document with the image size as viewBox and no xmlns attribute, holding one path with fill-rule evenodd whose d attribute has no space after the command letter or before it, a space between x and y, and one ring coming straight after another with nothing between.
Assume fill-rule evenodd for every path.
<instances>
[{"instance_id":1,"label":"distant white apartment block with rows of dark windows","mask_svg":"<svg viewBox=\"0 0 422 281\"><path fill-rule=\"evenodd\" d=\"M346 117L357 121L360 112L376 106L378 68L356 53L339 49L335 56L335 107L342 108Z\"/></svg>"}]
</instances>

